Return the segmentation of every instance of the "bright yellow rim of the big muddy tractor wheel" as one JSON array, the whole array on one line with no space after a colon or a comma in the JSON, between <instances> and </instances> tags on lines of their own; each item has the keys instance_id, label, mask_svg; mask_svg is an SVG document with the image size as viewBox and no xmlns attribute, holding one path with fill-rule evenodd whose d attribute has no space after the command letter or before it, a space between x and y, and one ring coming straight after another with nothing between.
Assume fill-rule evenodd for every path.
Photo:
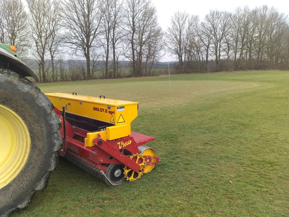
<instances>
[{"instance_id":1,"label":"bright yellow rim of the big muddy tractor wheel","mask_svg":"<svg viewBox=\"0 0 289 217\"><path fill-rule=\"evenodd\" d=\"M30 148L30 133L23 119L0 104L0 189L21 172Z\"/></svg>"}]
</instances>

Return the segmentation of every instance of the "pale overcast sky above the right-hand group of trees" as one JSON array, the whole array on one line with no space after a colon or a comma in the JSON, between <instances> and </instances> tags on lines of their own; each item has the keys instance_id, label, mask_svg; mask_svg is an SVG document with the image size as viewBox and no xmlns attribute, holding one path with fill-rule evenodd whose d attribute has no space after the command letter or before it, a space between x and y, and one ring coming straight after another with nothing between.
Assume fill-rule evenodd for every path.
<instances>
[{"instance_id":1,"label":"pale overcast sky above the right-hand group of trees","mask_svg":"<svg viewBox=\"0 0 289 217\"><path fill-rule=\"evenodd\" d=\"M242 1L212 1L212 0L152 0L154 6L157 9L157 16L160 26L163 30L170 24L170 18L176 11L186 11L188 14L199 15L203 20L204 16L210 12L210 10L226 10L233 12L237 7L243 7L245 5L249 8L255 8L256 6L268 5L277 8L281 13L289 14L289 1L284 0L242 0ZM172 58L165 55L161 61L172 61Z\"/></svg>"}]
</instances>

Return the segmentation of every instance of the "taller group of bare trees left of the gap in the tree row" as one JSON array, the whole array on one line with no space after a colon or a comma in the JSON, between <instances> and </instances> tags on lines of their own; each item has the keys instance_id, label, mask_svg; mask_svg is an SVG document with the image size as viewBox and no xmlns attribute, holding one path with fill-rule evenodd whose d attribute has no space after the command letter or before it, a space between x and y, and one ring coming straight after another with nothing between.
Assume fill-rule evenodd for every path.
<instances>
[{"instance_id":1,"label":"taller group of bare trees left of the gap in the tree row","mask_svg":"<svg viewBox=\"0 0 289 217\"><path fill-rule=\"evenodd\" d=\"M65 53L85 58L85 73L83 66L77 67L72 61L81 79L95 78L100 60L105 62L103 77L118 78L120 59L131 62L131 76L148 76L162 56L163 31L149 0L26 3L28 11L21 0L0 2L0 42L15 45L24 58L33 56L39 66L40 82L57 81L64 70Z\"/></svg>"}]
</instances>

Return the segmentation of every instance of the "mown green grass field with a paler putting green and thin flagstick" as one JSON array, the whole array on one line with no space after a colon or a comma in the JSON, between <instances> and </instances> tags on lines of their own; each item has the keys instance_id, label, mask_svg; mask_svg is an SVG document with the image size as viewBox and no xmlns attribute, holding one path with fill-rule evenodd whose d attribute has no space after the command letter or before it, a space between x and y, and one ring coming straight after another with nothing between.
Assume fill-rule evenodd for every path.
<instances>
[{"instance_id":1,"label":"mown green grass field with a paler putting green and thin flagstick","mask_svg":"<svg viewBox=\"0 0 289 217\"><path fill-rule=\"evenodd\" d=\"M289 216L289 72L249 71L39 84L45 93L139 102L132 130L160 164L108 187L60 159L11 216Z\"/></svg>"}]
</instances>

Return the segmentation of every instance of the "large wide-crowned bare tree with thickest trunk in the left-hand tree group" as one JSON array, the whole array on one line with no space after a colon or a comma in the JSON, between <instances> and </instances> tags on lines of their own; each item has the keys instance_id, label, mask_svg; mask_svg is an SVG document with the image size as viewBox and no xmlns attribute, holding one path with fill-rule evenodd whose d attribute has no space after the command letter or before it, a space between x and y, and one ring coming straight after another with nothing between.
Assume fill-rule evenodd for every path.
<instances>
[{"instance_id":1,"label":"large wide-crowned bare tree with thickest trunk in the left-hand tree group","mask_svg":"<svg viewBox=\"0 0 289 217\"><path fill-rule=\"evenodd\" d=\"M87 79L91 78L90 49L102 33L103 7L101 0L65 0L62 2L64 42L75 53L82 52L86 59Z\"/></svg>"}]
</instances>

